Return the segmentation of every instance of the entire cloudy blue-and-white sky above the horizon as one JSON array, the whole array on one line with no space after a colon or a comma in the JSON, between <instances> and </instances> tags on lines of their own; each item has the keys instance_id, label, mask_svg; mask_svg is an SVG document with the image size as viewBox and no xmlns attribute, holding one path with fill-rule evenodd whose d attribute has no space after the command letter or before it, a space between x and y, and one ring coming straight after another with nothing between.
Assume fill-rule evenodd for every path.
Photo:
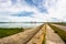
<instances>
[{"instance_id":1,"label":"entire cloudy blue-and-white sky above the horizon","mask_svg":"<svg viewBox=\"0 0 66 44\"><path fill-rule=\"evenodd\" d=\"M0 22L66 22L66 0L0 0Z\"/></svg>"}]
</instances>

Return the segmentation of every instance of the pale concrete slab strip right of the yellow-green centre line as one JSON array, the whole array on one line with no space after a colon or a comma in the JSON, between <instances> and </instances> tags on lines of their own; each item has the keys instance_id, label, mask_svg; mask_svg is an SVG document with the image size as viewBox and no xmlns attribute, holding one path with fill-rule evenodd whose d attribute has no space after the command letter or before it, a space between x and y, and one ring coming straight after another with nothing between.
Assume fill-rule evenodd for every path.
<instances>
[{"instance_id":1,"label":"pale concrete slab strip right of the yellow-green centre line","mask_svg":"<svg viewBox=\"0 0 66 44\"><path fill-rule=\"evenodd\" d=\"M65 44L64 41L46 24L46 44Z\"/></svg>"}]
</instances>

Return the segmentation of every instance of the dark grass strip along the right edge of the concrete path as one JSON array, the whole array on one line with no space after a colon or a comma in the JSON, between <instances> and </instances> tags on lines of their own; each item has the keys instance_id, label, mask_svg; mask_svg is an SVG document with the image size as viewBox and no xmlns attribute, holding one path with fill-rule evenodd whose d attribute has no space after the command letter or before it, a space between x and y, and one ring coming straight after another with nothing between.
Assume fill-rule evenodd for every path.
<instances>
[{"instance_id":1,"label":"dark grass strip along the right edge of the concrete path","mask_svg":"<svg viewBox=\"0 0 66 44\"><path fill-rule=\"evenodd\" d=\"M50 26L55 31L55 33L57 33L61 37L62 37L62 40L66 43L66 32L65 31L63 31L63 30L61 30L61 29L58 29L58 28L56 28L56 26L54 26L54 25L51 25L50 24Z\"/></svg>"}]
</instances>

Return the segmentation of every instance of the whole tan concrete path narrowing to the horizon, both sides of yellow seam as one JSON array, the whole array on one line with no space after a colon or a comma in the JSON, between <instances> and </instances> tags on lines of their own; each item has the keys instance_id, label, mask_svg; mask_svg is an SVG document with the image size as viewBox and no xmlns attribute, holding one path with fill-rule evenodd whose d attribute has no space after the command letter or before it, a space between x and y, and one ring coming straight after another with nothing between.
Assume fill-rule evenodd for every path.
<instances>
[{"instance_id":1,"label":"whole tan concrete path narrowing to the horizon, both sides of yellow seam","mask_svg":"<svg viewBox=\"0 0 66 44\"><path fill-rule=\"evenodd\" d=\"M42 44L44 38L45 44L65 44L47 24L0 38L0 44Z\"/></svg>"}]
</instances>

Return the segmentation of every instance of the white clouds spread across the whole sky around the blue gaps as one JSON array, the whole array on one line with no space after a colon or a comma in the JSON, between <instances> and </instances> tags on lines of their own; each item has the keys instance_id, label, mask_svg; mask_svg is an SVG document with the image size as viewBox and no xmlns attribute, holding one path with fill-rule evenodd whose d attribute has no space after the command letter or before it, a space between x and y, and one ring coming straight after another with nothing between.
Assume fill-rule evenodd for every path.
<instances>
[{"instance_id":1,"label":"white clouds spread across the whole sky around the blue gaps","mask_svg":"<svg viewBox=\"0 0 66 44\"><path fill-rule=\"evenodd\" d=\"M19 1L19 0L18 0ZM12 6L10 0L7 0L6 3L0 0L0 12L11 12L9 14L0 13L0 21L4 18L9 22L24 22L24 21L55 21L52 18L56 18L57 21L66 21L66 0L46 0L43 7L47 8L48 13L41 13L37 8L28 6L24 1L20 4L20 1ZM34 14L32 16L11 16L20 11L32 11ZM6 16L7 15L7 16ZM6 21L3 20L3 21Z\"/></svg>"}]
</instances>

